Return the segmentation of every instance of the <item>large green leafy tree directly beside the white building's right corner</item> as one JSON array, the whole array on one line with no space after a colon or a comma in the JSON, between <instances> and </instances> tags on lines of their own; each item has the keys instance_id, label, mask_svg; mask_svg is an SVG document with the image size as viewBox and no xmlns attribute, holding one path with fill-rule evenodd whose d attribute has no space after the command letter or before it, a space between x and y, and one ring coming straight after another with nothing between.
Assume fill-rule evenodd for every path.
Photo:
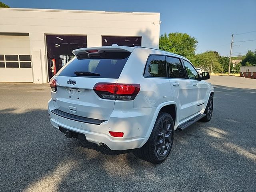
<instances>
[{"instance_id":1,"label":"large green leafy tree directly beside the white building's right corner","mask_svg":"<svg viewBox=\"0 0 256 192\"><path fill-rule=\"evenodd\" d=\"M159 49L192 58L198 41L186 33L166 33L160 36Z\"/></svg>"}]
</instances>

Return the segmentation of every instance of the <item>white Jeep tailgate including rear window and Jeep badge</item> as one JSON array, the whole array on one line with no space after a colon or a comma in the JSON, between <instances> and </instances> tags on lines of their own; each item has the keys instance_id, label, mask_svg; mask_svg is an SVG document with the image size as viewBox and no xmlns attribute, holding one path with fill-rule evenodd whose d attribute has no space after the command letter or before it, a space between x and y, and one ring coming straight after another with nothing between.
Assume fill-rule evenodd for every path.
<instances>
[{"instance_id":1,"label":"white Jeep tailgate including rear window and Jeep badge","mask_svg":"<svg viewBox=\"0 0 256 192\"><path fill-rule=\"evenodd\" d=\"M100 98L93 90L98 82L116 83L130 52L104 51L81 54L66 64L54 78L52 92L56 109L82 117L108 120L115 100Z\"/></svg>"}]
</instances>

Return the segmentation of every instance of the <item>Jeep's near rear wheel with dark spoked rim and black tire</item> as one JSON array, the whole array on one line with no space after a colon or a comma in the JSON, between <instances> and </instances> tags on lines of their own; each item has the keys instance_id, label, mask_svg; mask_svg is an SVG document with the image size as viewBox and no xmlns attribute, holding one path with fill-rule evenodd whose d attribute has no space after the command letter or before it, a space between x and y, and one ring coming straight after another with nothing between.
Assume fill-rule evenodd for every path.
<instances>
[{"instance_id":1,"label":"Jeep's near rear wheel with dark spoked rim and black tire","mask_svg":"<svg viewBox=\"0 0 256 192\"><path fill-rule=\"evenodd\" d=\"M168 113L160 113L148 141L138 149L139 156L151 163L162 163L172 149L174 140L174 122Z\"/></svg>"}]
</instances>

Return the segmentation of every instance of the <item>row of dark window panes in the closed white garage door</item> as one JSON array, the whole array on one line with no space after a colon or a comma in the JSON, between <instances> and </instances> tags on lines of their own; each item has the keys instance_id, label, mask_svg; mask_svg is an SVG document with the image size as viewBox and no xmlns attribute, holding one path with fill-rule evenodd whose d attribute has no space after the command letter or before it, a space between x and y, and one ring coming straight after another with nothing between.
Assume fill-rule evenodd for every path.
<instances>
[{"instance_id":1,"label":"row of dark window panes in the closed white garage door","mask_svg":"<svg viewBox=\"0 0 256 192\"><path fill-rule=\"evenodd\" d=\"M0 55L0 68L31 68L30 55Z\"/></svg>"}]
</instances>

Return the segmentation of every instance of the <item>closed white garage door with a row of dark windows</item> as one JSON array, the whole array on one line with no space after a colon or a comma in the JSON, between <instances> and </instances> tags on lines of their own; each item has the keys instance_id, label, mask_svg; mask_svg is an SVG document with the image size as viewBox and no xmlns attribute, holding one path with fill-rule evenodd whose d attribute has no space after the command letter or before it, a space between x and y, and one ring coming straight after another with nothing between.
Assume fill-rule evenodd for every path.
<instances>
[{"instance_id":1,"label":"closed white garage door with a row of dark windows","mask_svg":"<svg viewBox=\"0 0 256 192\"><path fill-rule=\"evenodd\" d=\"M33 82L29 36L0 35L0 82Z\"/></svg>"}]
</instances>

